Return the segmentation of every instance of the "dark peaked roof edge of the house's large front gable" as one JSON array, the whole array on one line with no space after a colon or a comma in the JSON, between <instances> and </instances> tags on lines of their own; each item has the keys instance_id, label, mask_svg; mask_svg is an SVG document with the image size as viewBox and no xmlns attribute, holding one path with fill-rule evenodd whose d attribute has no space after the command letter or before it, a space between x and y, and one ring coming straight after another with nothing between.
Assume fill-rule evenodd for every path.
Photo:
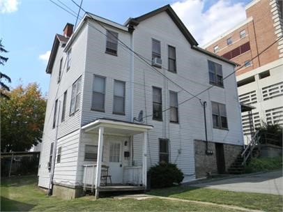
<instances>
[{"instance_id":1,"label":"dark peaked roof edge of the house's large front gable","mask_svg":"<svg viewBox=\"0 0 283 212\"><path fill-rule=\"evenodd\" d=\"M180 20L178 15L174 12L174 10L171 8L171 6L169 4L167 4L166 6L162 6L161 8L158 8L156 10L153 10L150 13L146 13L142 16L130 18L130 19L128 19L127 22L125 22L125 25L133 24L134 26L137 26L137 24L139 24L139 22L142 22L142 21L148 19L149 17L153 17L154 15L158 15L159 13L162 13L162 12L168 13L168 15L171 17L173 22L177 25L178 29L180 29L180 31L183 33L185 38L187 38L190 45L192 45L192 46L198 45L197 40L194 39L194 37L192 36L190 31L188 31L188 29L185 27L183 22Z\"/></svg>"}]
</instances>

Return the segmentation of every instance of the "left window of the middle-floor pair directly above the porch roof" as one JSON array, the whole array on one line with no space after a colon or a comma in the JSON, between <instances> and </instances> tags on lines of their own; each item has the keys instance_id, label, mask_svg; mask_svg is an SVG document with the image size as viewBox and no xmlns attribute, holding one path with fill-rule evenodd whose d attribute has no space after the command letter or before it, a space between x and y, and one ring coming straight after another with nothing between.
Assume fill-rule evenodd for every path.
<instances>
[{"instance_id":1,"label":"left window of the middle-floor pair directly above the porch roof","mask_svg":"<svg viewBox=\"0 0 283 212\"><path fill-rule=\"evenodd\" d=\"M94 75L93 77L93 100L91 109L104 112L105 107L105 77Z\"/></svg>"}]
</instances>

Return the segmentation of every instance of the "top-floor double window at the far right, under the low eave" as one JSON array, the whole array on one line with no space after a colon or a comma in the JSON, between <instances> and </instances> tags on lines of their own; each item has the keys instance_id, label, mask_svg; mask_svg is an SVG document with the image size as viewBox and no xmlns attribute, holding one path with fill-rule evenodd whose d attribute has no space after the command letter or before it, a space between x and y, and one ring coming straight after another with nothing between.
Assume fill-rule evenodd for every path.
<instances>
[{"instance_id":1,"label":"top-floor double window at the far right, under the low eave","mask_svg":"<svg viewBox=\"0 0 283 212\"><path fill-rule=\"evenodd\" d=\"M222 66L213 61L208 61L209 83L223 86Z\"/></svg>"}]
</instances>

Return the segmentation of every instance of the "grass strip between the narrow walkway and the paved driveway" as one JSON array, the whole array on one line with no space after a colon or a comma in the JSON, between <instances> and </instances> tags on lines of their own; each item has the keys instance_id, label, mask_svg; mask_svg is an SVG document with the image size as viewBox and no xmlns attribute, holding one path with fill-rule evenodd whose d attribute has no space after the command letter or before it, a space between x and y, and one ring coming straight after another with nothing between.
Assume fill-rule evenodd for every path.
<instances>
[{"instance_id":1,"label":"grass strip between the narrow walkway and the paved driveway","mask_svg":"<svg viewBox=\"0 0 283 212\"><path fill-rule=\"evenodd\" d=\"M227 204L240 206L247 209L262 211L282 211L282 196L266 195L250 192L232 192L210 188L194 188L176 186L166 189L151 190L150 195L163 197L176 197L202 202L213 202L216 204Z\"/></svg>"}]
</instances>

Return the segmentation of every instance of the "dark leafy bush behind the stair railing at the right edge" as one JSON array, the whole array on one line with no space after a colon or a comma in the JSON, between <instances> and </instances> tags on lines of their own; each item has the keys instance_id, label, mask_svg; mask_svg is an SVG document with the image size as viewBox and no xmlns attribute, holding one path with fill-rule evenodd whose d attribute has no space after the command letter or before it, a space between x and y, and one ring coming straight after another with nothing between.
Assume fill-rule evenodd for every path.
<instances>
[{"instance_id":1,"label":"dark leafy bush behind the stair railing at the right edge","mask_svg":"<svg viewBox=\"0 0 283 212\"><path fill-rule=\"evenodd\" d=\"M278 123L265 123L263 126L257 128L261 138L259 142L261 144L274 144L282 146L282 127Z\"/></svg>"}]
</instances>

